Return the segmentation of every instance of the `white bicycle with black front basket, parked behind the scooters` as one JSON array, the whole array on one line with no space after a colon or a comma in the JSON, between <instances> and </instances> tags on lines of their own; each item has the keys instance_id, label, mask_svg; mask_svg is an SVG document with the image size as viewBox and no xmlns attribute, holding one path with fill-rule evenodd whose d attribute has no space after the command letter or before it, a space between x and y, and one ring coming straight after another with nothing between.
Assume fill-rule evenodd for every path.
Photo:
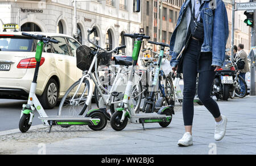
<instances>
[{"instance_id":1,"label":"white bicycle with black front basket, parked behind the scooters","mask_svg":"<svg viewBox=\"0 0 256 166\"><path fill-rule=\"evenodd\" d=\"M110 106L113 107L114 103L116 103L113 101L113 98L119 96L119 92L117 92L116 89L118 85L123 82L123 77L121 77L123 76L122 68L119 68L117 77L115 77L114 84L110 91L101 84L97 68L102 57L108 57L109 54L118 53L120 49L126 48L126 46L123 45L112 51L106 51L104 48L90 41L89 36L95 30L95 28L88 30L88 42L93 44L96 48L86 47L85 45L77 48L77 67L83 71L82 77L67 90L64 97L61 99L57 115L81 115L84 114L87 109L90 110L90 102L94 92L93 85L95 85L94 88L98 90L98 96L100 96L100 98L98 98L98 106L101 108L100 111L110 120L111 113L109 113L108 110ZM129 66L130 62L121 60L119 64ZM103 94L102 90L107 94ZM112 113L113 112L112 109ZM87 115L91 113L92 111L88 111Z\"/></svg>"}]
</instances>

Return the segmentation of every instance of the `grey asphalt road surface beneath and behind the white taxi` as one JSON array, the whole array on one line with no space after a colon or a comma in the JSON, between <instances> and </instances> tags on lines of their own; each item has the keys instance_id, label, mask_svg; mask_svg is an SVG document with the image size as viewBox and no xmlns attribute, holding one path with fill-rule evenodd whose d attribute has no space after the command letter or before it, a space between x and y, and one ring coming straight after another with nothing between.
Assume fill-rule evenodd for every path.
<instances>
[{"instance_id":1,"label":"grey asphalt road surface beneath and behind the white taxi","mask_svg":"<svg viewBox=\"0 0 256 166\"><path fill-rule=\"evenodd\" d=\"M19 128L20 110L22 105L27 101L16 99L0 99L0 131L12 130ZM59 104L59 103L58 103ZM96 107L95 104L92 107ZM47 115L57 115L58 106L52 110L46 110ZM35 118L33 119L32 126L42 124L38 119L39 114L35 111Z\"/></svg>"}]
</instances>

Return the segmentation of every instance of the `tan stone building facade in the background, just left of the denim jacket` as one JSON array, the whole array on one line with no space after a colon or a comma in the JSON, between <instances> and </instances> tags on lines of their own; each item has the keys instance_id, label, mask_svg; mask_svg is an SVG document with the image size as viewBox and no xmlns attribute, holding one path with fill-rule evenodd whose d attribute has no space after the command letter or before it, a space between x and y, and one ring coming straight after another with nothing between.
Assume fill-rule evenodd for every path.
<instances>
[{"instance_id":1,"label":"tan stone building facade in the background, just left of the denim jacket","mask_svg":"<svg viewBox=\"0 0 256 166\"><path fill-rule=\"evenodd\" d=\"M183 2L184 0L142 1L142 28L144 33L151 36L151 40L155 42L170 43ZM163 6L162 10L160 9L160 3ZM162 18L160 18L160 12L162 12ZM162 22L162 27L160 27L160 22ZM162 38L160 38L160 35L162 35ZM144 47L153 47L156 50L156 47L150 44L144 45Z\"/></svg>"}]
</instances>

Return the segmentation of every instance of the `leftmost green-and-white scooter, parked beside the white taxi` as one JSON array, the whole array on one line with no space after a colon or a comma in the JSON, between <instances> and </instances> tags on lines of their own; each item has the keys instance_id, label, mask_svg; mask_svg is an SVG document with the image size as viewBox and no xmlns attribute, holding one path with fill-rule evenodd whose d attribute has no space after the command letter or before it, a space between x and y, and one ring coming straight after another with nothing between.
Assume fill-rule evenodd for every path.
<instances>
[{"instance_id":1,"label":"leftmost green-and-white scooter, parked beside the white taxi","mask_svg":"<svg viewBox=\"0 0 256 166\"><path fill-rule=\"evenodd\" d=\"M27 104L23 105L23 109L20 114L19 120L19 130L21 132L27 132L32 124L32 119L34 118L34 111L38 111L40 117L39 119L42 120L43 124L49 126L49 132L51 132L52 126L63 126L68 127L72 125L88 125L92 130L102 130L105 128L108 118L106 114L104 114L105 110L101 109L94 109L88 111L88 113L84 115L77 115L77 116L55 116L55 117L48 117L46 112L44 111L42 105L40 104L38 98L36 97L36 81L38 78L38 72L40 67L40 61L42 57L42 52L44 48L44 44L48 43L59 43L59 41L51 39L51 37L46 37L43 35L32 35L27 33L22 33L24 36L28 36L29 38L39 40L37 47L36 47L36 68L34 73L34 78L31 83L30 94L28 97ZM110 117L109 117L110 118Z\"/></svg>"}]
</instances>

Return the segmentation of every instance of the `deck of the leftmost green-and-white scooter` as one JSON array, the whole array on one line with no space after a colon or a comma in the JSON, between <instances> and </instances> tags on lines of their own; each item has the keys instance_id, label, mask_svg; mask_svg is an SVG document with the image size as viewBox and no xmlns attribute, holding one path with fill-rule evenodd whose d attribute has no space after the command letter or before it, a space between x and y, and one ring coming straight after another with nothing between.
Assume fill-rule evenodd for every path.
<instances>
[{"instance_id":1,"label":"deck of the leftmost green-and-white scooter","mask_svg":"<svg viewBox=\"0 0 256 166\"><path fill-rule=\"evenodd\" d=\"M63 117L63 116L55 116L55 117L39 117L42 120L44 125L50 126L59 126L59 125L97 125L100 122L98 118L90 118L90 117Z\"/></svg>"}]
</instances>

